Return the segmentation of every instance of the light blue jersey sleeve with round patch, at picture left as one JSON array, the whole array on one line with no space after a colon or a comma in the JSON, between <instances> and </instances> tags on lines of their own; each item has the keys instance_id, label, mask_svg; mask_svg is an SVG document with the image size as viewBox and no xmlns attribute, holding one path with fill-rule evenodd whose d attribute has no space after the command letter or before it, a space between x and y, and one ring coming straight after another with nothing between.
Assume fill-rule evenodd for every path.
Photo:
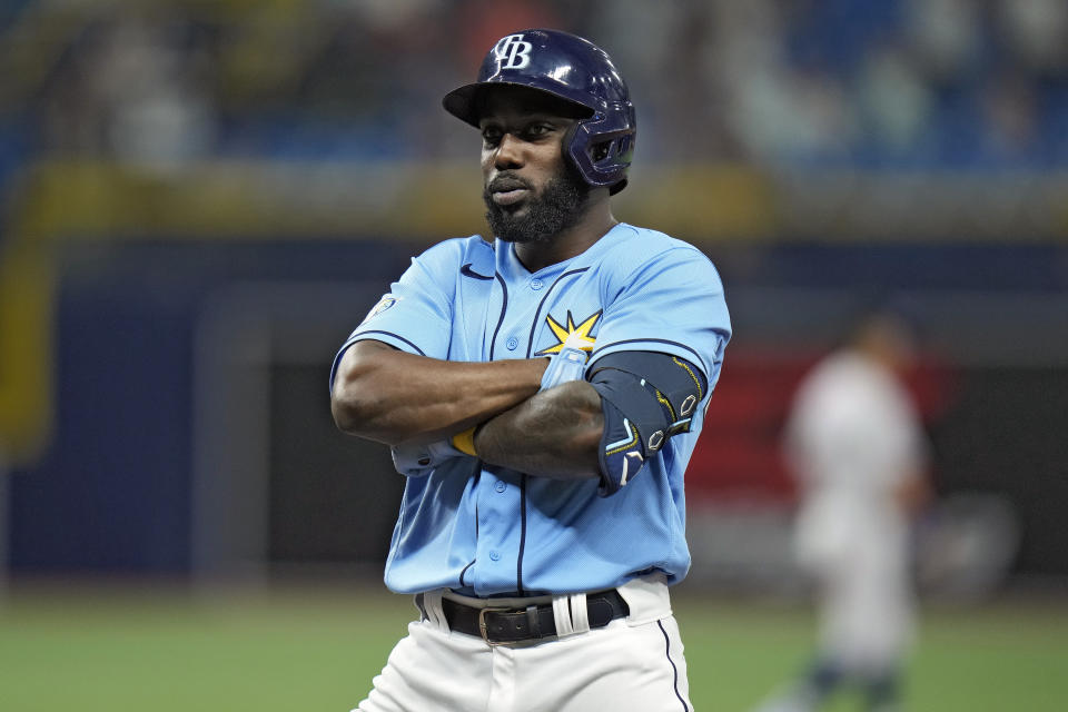
<instances>
[{"instance_id":1,"label":"light blue jersey sleeve with round patch, at picture left","mask_svg":"<svg viewBox=\"0 0 1068 712\"><path fill-rule=\"evenodd\" d=\"M342 356L364 339L383 342L418 356L447 357L462 256L462 241L447 240L412 258L412 265L338 349L330 367L332 389Z\"/></svg>"}]
</instances>

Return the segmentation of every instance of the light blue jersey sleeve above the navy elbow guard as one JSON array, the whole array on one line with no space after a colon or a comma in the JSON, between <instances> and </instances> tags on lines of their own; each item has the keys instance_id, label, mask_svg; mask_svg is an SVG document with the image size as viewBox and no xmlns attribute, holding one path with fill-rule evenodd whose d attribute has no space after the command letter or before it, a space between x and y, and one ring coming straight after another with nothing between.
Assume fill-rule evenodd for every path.
<instances>
[{"instance_id":1,"label":"light blue jersey sleeve above the navy elbow guard","mask_svg":"<svg viewBox=\"0 0 1068 712\"><path fill-rule=\"evenodd\" d=\"M701 368L711 392L731 337L723 283L712 263L693 247L678 247L620 284L605 305L591 366L616 352L661 352Z\"/></svg>"}]
</instances>

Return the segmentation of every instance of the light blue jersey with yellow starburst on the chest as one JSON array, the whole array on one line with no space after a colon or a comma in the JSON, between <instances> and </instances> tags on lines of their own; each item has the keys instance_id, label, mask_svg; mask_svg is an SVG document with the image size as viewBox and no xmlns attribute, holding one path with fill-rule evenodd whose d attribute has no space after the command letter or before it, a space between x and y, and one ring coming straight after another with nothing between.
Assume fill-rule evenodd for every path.
<instances>
[{"instance_id":1,"label":"light blue jersey with yellow starburst on the chest","mask_svg":"<svg viewBox=\"0 0 1068 712\"><path fill-rule=\"evenodd\" d=\"M561 481L446 461L409 477L386 561L397 593L576 593L690 567L683 474L720 375L731 326L723 286L696 248L621 224L585 253L530 273L512 245L478 236L441 243L412 260L353 332L360 339L457 362L532 358L570 344L590 364L620 350L662 352L701 368L709 393L681 433L626 487ZM330 374L330 383L334 380Z\"/></svg>"}]
</instances>

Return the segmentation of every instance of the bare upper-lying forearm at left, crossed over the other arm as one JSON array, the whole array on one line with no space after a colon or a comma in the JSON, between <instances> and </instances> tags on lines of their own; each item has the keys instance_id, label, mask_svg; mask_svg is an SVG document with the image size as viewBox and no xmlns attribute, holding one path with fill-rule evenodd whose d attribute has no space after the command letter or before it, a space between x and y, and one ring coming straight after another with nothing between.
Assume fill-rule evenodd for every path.
<instances>
[{"instance_id":1,"label":"bare upper-lying forearm at left, crossed over the other arm","mask_svg":"<svg viewBox=\"0 0 1068 712\"><path fill-rule=\"evenodd\" d=\"M446 362L380 342L354 344L342 357L330 411L337 426L382 443L433 441L502 413L535 393L545 358Z\"/></svg>"}]
</instances>

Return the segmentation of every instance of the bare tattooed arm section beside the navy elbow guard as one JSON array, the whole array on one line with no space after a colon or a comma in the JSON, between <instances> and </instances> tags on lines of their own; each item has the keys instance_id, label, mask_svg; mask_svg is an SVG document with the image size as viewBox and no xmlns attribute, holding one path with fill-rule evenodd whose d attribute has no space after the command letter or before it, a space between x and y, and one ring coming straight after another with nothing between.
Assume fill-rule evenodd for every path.
<instances>
[{"instance_id":1,"label":"bare tattooed arm section beside the navy elbow guard","mask_svg":"<svg viewBox=\"0 0 1068 712\"><path fill-rule=\"evenodd\" d=\"M542 477L599 477L601 396L582 380L544 390L478 428L483 462Z\"/></svg>"}]
</instances>

